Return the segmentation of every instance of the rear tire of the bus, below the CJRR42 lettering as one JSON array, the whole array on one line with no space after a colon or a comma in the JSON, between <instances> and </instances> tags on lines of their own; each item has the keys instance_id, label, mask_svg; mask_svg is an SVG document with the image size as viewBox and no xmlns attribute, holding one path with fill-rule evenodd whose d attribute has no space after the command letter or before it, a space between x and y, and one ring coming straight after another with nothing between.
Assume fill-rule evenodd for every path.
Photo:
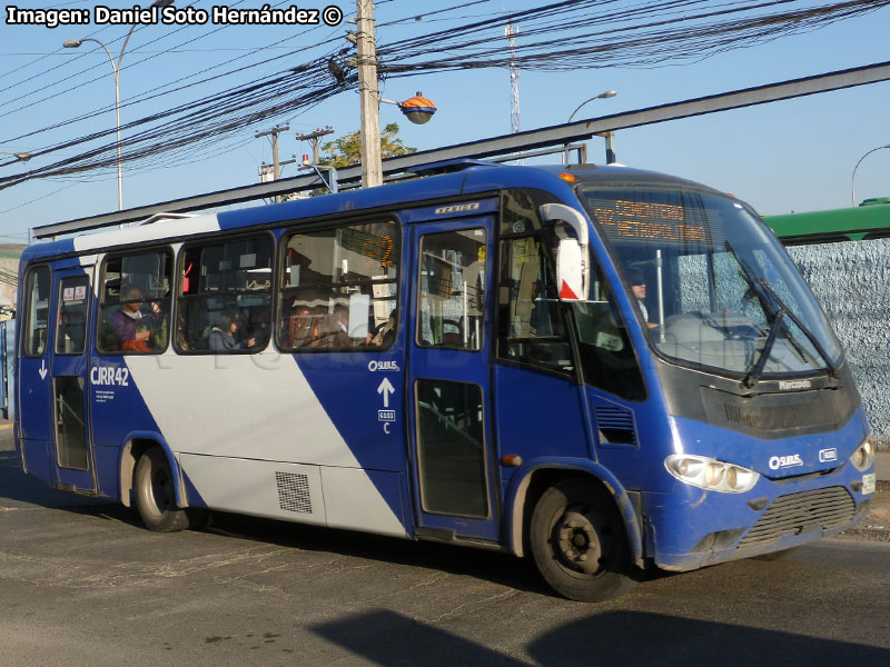
<instances>
[{"instance_id":1,"label":"rear tire of the bus, below the CJRR42 lettering","mask_svg":"<svg viewBox=\"0 0 890 667\"><path fill-rule=\"evenodd\" d=\"M174 476L164 452L152 447L136 465L136 507L146 528L157 532L186 530L191 526L189 511L176 506Z\"/></svg>"}]
</instances>

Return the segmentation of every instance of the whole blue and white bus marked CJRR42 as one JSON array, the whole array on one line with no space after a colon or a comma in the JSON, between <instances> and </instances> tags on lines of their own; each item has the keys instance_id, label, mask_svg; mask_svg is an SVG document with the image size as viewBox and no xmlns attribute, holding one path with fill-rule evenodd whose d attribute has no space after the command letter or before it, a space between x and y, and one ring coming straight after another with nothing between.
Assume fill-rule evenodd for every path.
<instances>
[{"instance_id":1,"label":"whole blue and white bus marked CJRR42","mask_svg":"<svg viewBox=\"0 0 890 667\"><path fill-rule=\"evenodd\" d=\"M159 531L225 510L531 556L578 600L864 516L850 369L750 207L438 171L28 248L24 470Z\"/></svg>"}]
</instances>

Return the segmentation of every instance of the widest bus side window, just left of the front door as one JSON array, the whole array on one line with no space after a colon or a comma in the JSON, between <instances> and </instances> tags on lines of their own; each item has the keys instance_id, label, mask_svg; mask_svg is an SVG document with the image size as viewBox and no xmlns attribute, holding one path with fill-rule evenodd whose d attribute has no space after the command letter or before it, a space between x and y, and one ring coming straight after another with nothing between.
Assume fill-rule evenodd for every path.
<instances>
[{"instance_id":1,"label":"widest bus side window, just left of the front door","mask_svg":"<svg viewBox=\"0 0 890 667\"><path fill-rule=\"evenodd\" d=\"M285 238L278 347L287 351L386 349L398 329L395 222L366 222Z\"/></svg>"}]
</instances>

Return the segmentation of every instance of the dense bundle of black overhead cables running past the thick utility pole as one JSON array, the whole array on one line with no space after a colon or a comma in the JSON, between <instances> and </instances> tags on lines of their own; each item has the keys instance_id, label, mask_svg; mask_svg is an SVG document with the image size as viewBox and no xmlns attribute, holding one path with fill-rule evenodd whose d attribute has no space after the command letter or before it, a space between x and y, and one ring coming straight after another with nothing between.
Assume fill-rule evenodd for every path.
<instances>
[{"instance_id":1,"label":"dense bundle of black overhead cables running past the thick utility pole","mask_svg":"<svg viewBox=\"0 0 890 667\"><path fill-rule=\"evenodd\" d=\"M507 16L496 16L454 31L435 30L394 42L378 50L380 71L388 76L416 76L428 71L507 67L510 56L493 27L513 21L523 27L524 40L516 46L515 61L523 69L595 68L622 64L653 64L668 60L701 58L783 34L813 30L828 22L874 11L886 1L849 0L815 8L767 12L795 0L723 2L674 0L642 2L620 11L592 11L615 4L615 0L574 0L552 3ZM691 12L699 8L700 11ZM623 22L622 22L623 21ZM584 30L568 40L566 29ZM501 38L503 39L503 38ZM333 40L319 42L329 43ZM418 49L418 44L425 44ZM503 43L503 42L501 42ZM308 47L307 47L308 48ZM448 56L454 49L474 49L469 56ZM343 58L346 50L330 51L297 68L243 83L198 100L181 103L131 121L128 130L139 130L123 141L123 160L147 163L158 156L186 146L197 147L244 128L295 112L305 112L329 97L355 87L348 71L340 83L326 72L328 59ZM421 59L418 53L436 53ZM266 62L277 60L267 59ZM246 66L249 69L256 64ZM347 68L348 69L348 68ZM208 80L226 74L211 77ZM165 93L166 94L166 93ZM105 129L66 140L38 151L49 155L110 136ZM116 162L115 143L107 142L29 172L0 178L0 189L37 178L52 178L103 169ZM7 163L4 166L9 166Z\"/></svg>"}]
</instances>

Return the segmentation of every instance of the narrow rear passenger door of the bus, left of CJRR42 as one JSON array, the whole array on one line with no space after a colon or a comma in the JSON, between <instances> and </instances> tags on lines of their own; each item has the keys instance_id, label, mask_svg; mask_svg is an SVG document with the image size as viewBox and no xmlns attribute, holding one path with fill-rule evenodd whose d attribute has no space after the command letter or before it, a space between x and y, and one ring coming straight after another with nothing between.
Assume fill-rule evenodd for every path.
<instances>
[{"instance_id":1,"label":"narrow rear passenger door of the bus, left of CJRR42","mask_svg":"<svg viewBox=\"0 0 890 667\"><path fill-rule=\"evenodd\" d=\"M53 454L58 486L93 491L93 457L87 409L92 267L56 271L52 280Z\"/></svg>"}]
</instances>

